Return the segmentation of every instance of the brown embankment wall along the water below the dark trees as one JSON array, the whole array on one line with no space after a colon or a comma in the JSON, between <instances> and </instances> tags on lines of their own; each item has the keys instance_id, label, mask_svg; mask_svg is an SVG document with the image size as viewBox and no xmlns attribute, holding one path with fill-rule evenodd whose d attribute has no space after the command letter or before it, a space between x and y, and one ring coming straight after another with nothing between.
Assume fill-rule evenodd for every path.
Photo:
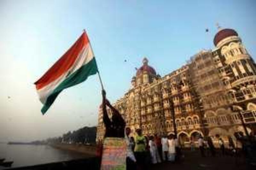
<instances>
[{"instance_id":1,"label":"brown embankment wall along the water below the dark trees","mask_svg":"<svg viewBox=\"0 0 256 170\"><path fill-rule=\"evenodd\" d=\"M50 144L50 146L61 150L96 156L96 146L88 146L84 144Z\"/></svg>"}]
</instances>

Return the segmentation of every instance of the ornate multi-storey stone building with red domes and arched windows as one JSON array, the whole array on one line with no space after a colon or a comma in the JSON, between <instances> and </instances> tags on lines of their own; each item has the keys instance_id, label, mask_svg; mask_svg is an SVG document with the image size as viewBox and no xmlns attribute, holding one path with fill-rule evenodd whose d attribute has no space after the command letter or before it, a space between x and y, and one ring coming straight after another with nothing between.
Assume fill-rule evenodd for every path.
<instances>
[{"instance_id":1,"label":"ornate multi-storey stone building with red domes and arched windows","mask_svg":"<svg viewBox=\"0 0 256 170\"><path fill-rule=\"evenodd\" d=\"M114 104L132 136L138 128L144 135L173 133L173 112L181 142L198 134L234 138L235 132L244 132L240 113L249 133L255 131L256 65L233 29L220 29L214 45L164 77L143 59L132 88ZM96 140L103 136L99 109Z\"/></svg>"}]
</instances>

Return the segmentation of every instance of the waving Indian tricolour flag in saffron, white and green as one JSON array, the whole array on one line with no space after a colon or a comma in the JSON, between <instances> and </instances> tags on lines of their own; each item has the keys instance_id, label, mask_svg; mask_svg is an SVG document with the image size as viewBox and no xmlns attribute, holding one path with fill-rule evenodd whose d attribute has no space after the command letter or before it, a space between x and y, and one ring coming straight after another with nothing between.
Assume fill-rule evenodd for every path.
<instances>
[{"instance_id":1,"label":"waving Indian tricolour flag in saffron, white and green","mask_svg":"<svg viewBox=\"0 0 256 170\"><path fill-rule=\"evenodd\" d=\"M87 34L84 33L53 66L36 81L36 90L44 104L41 112L49 109L60 92L85 81L98 72Z\"/></svg>"}]
</instances>

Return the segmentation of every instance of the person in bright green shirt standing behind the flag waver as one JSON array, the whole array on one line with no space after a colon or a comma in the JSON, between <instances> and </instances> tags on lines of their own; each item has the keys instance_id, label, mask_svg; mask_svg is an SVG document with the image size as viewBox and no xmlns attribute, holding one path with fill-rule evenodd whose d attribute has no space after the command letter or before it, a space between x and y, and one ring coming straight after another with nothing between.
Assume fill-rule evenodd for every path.
<instances>
[{"instance_id":1,"label":"person in bright green shirt standing behind the flag waver","mask_svg":"<svg viewBox=\"0 0 256 170\"><path fill-rule=\"evenodd\" d=\"M146 138L142 135L141 129L136 130L137 136L135 137L135 158L137 160L138 169L145 167L146 158Z\"/></svg>"}]
</instances>

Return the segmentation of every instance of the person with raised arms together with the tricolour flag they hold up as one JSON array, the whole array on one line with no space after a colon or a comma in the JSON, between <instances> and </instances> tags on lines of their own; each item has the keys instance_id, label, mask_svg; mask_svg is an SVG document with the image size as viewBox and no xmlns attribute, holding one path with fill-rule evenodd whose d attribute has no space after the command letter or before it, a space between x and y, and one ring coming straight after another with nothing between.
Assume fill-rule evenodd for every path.
<instances>
[{"instance_id":1,"label":"person with raised arms together with the tricolour flag they hold up","mask_svg":"<svg viewBox=\"0 0 256 170\"><path fill-rule=\"evenodd\" d=\"M62 90L82 83L90 75L96 73L98 73L100 78L92 47L84 30L75 44L35 83L39 99L44 104L41 109L43 115L51 107ZM125 121L106 99L106 92L103 89L101 78L100 83L102 87L103 119L106 127L101 169L125 170ZM108 118L106 106L113 112L111 120Z\"/></svg>"}]
</instances>

